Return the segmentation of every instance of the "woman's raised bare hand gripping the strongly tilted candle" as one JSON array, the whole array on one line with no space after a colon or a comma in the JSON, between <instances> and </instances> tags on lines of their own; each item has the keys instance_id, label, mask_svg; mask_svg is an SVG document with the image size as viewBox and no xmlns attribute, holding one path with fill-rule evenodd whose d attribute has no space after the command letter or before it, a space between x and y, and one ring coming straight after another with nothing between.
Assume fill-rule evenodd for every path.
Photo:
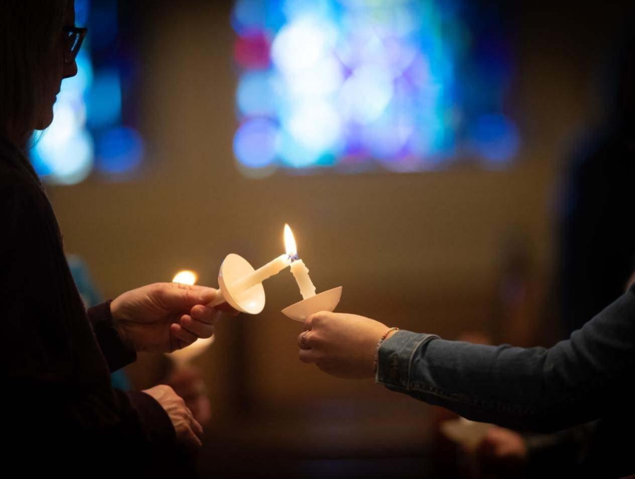
<instances>
[{"instance_id":1,"label":"woman's raised bare hand gripping the strongly tilted candle","mask_svg":"<svg viewBox=\"0 0 635 479\"><path fill-rule=\"evenodd\" d=\"M155 283L124 292L110 303L119 336L135 351L170 353L214 334L216 289Z\"/></svg>"}]
</instances>

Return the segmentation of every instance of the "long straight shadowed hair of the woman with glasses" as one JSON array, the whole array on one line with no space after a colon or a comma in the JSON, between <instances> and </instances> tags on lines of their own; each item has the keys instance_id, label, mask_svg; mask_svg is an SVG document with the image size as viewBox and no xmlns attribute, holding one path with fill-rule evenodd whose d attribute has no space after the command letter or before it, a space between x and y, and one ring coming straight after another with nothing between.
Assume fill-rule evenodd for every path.
<instances>
[{"instance_id":1,"label":"long straight shadowed hair of the woman with glasses","mask_svg":"<svg viewBox=\"0 0 635 479\"><path fill-rule=\"evenodd\" d=\"M43 100L46 69L73 0L0 2L0 135L25 147Z\"/></svg>"}]
</instances>

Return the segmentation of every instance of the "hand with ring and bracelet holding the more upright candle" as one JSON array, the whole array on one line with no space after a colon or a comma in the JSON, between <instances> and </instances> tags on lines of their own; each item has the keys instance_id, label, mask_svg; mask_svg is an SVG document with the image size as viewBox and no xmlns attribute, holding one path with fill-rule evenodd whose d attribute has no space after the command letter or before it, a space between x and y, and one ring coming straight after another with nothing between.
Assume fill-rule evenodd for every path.
<instances>
[{"instance_id":1,"label":"hand with ring and bracelet holding the more upright candle","mask_svg":"<svg viewBox=\"0 0 635 479\"><path fill-rule=\"evenodd\" d=\"M387 325L352 314L321 312L304 322L300 360L336 377L375 376L375 348Z\"/></svg>"}]
</instances>

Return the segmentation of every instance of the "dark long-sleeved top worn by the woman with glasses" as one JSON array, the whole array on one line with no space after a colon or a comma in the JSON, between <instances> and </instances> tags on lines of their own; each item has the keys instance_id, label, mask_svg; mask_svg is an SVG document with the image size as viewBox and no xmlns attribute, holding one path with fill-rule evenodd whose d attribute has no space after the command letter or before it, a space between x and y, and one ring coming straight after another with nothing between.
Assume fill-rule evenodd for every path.
<instances>
[{"instance_id":1,"label":"dark long-sleeved top worn by the woman with glasses","mask_svg":"<svg viewBox=\"0 0 635 479\"><path fill-rule=\"evenodd\" d=\"M145 471L174 447L170 418L149 395L110 386L110 371L136 355L119 341L109 303L87 314L39 178L1 138L0 225L1 396L10 454L33 457L27 470L67 467L70 456L74 464L81 458L100 469Z\"/></svg>"}]
</instances>

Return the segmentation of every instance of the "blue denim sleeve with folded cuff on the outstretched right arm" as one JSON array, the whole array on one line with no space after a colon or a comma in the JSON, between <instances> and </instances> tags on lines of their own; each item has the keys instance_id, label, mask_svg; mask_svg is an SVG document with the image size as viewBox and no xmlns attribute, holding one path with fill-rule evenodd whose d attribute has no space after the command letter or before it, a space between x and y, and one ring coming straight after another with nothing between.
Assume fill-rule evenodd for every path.
<instances>
[{"instance_id":1,"label":"blue denim sleeve with folded cuff on the outstretched right arm","mask_svg":"<svg viewBox=\"0 0 635 479\"><path fill-rule=\"evenodd\" d=\"M445 341L398 331L377 383L474 421L556 431L635 406L635 286L552 348Z\"/></svg>"}]
</instances>

